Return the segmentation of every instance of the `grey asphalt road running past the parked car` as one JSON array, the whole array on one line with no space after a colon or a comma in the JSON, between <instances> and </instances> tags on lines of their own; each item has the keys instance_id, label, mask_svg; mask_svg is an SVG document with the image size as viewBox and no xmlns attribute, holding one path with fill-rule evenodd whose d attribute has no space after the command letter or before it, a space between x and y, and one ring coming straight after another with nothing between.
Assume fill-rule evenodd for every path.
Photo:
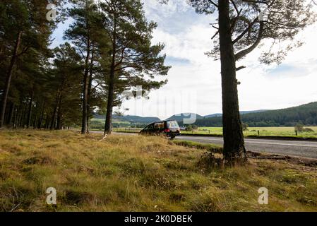
<instances>
[{"instance_id":1,"label":"grey asphalt road running past the parked car","mask_svg":"<svg viewBox=\"0 0 317 226\"><path fill-rule=\"evenodd\" d=\"M120 135L137 135L137 133L116 133ZM178 140L194 141L199 143L215 143L223 145L221 137L177 136ZM270 139L244 139L246 150L259 153L273 153L295 157L309 157L317 159L317 141L284 141Z\"/></svg>"}]
</instances>

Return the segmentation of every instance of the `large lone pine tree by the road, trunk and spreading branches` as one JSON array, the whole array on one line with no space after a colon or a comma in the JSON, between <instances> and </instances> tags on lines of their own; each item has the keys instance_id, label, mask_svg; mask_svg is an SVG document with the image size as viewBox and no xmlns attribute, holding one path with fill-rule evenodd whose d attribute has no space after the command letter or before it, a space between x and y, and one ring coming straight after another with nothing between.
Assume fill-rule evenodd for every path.
<instances>
[{"instance_id":1,"label":"large lone pine tree by the road, trunk and spreading branches","mask_svg":"<svg viewBox=\"0 0 317 226\"><path fill-rule=\"evenodd\" d=\"M214 49L208 54L221 61L225 164L244 164L247 156L236 77L244 66L236 66L236 63L263 40L270 42L271 47L261 54L261 62L280 63L289 50L299 46L294 37L315 21L315 13L311 11L311 4L301 0L190 0L189 3L197 13L209 15L217 11L217 23L213 23L217 29L213 36ZM281 42L286 43L283 49L279 49Z\"/></svg>"}]
</instances>

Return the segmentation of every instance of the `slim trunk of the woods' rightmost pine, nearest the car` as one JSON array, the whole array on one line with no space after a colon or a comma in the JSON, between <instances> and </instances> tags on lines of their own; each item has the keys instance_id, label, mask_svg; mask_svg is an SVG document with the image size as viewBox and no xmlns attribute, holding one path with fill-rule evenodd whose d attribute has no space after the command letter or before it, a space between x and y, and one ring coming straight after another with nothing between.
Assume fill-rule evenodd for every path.
<instances>
[{"instance_id":1,"label":"slim trunk of the woods' rightmost pine, nearest the car","mask_svg":"<svg viewBox=\"0 0 317 226\"><path fill-rule=\"evenodd\" d=\"M108 99L107 99L107 114L106 123L104 124L104 135L111 134L112 132L112 110L114 104L114 76L115 76L115 65L116 65L116 16L114 15L114 31L112 35L112 64L109 74L109 88L108 88Z\"/></svg>"}]
</instances>

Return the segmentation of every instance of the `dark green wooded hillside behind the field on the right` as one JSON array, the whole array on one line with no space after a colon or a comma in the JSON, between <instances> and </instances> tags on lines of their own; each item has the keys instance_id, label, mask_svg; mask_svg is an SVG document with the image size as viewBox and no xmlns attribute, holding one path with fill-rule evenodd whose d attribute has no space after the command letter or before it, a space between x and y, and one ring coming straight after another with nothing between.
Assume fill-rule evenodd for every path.
<instances>
[{"instance_id":1,"label":"dark green wooded hillside behind the field on the right","mask_svg":"<svg viewBox=\"0 0 317 226\"><path fill-rule=\"evenodd\" d=\"M242 114L241 120L250 127L265 126L295 126L298 123L306 126L317 125L317 102L312 102L299 107ZM179 121L182 125L182 121ZM197 126L222 126L222 117L197 119Z\"/></svg>"}]
</instances>

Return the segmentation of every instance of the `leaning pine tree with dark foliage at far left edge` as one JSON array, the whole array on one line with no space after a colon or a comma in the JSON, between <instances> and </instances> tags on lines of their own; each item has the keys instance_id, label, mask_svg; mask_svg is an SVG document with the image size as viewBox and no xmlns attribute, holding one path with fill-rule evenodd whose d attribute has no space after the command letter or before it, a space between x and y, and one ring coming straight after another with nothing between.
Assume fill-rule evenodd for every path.
<instances>
[{"instance_id":1,"label":"leaning pine tree with dark foliage at far left edge","mask_svg":"<svg viewBox=\"0 0 317 226\"><path fill-rule=\"evenodd\" d=\"M47 51L49 35L54 28L54 22L46 18L48 3L40 0L4 0L0 3L0 67L6 71L1 75L5 82L2 86L0 128L4 125L13 70L18 59L30 51Z\"/></svg>"}]
</instances>

